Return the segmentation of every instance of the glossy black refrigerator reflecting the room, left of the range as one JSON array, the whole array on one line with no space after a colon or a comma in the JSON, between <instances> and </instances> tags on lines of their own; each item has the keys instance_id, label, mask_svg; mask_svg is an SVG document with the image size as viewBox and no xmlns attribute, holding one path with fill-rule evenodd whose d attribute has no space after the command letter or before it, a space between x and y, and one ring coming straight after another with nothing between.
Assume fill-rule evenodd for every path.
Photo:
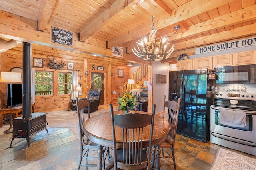
<instances>
[{"instance_id":1,"label":"glossy black refrigerator reflecting the room, left of the range","mask_svg":"<svg viewBox=\"0 0 256 170\"><path fill-rule=\"evenodd\" d=\"M212 84L207 69L169 72L169 100L181 98L177 133L202 142L210 140Z\"/></svg>"}]
</instances>

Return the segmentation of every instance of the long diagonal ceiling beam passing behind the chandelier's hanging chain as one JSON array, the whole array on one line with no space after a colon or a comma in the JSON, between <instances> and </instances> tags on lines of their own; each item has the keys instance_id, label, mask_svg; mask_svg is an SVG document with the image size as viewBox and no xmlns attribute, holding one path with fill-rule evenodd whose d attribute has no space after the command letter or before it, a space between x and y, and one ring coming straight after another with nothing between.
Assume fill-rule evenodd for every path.
<instances>
[{"instance_id":1,"label":"long diagonal ceiling beam passing behind the chandelier's hanging chain","mask_svg":"<svg viewBox=\"0 0 256 170\"><path fill-rule=\"evenodd\" d=\"M222 5L232 2L232 1L234 1L234 0L222 0L222 1L220 1L220 0L192 0L182 6L179 6L178 8L175 8L174 10L172 10L172 15L170 17L156 22L155 29L162 29L164 27L168 27L169 25L186 20L188 18L191 18L193 16L201 14L202 12L206 12L213 8L217 8L218 6L222 6ZM197 8L194 8L195 6ZM126 43L128 41L131 41L133 39L142 37L150 32L151 25L152 25L152 21L148 21L148 22L144 23L143 25L140 25L140 26L136 27L135 29L132 29L132 30L128 31L127 33L124 33L124 34L108 41L108 44L110 47L113 47L116 45Z\"/></svg>"}]
</instances>

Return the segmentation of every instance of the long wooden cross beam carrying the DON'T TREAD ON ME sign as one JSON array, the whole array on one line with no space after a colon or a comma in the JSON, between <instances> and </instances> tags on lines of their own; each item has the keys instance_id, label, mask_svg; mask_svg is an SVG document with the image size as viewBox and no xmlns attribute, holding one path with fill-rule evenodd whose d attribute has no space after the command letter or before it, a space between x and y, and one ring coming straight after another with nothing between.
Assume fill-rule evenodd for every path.
<instances>
[{"instance_id":1,"label":"long wooden cross beam carrying the DON'T TREAD ON ME sign","mask_svg":"<svg viewBox=\"0 0 256 170\"><path fill-rule=\"evenodd\" d=\"M14 39L17 41L26 41L29 43L45 45L52 48L64 49L69 51L78 51L81 53L95 54L100 57L109 57L112 59L118 59L127 62L140 63L150 65L151 61L144 61L133 54L123 54L123 57L116 57L112 55L112 49L106 49L103 47L98 47L96 45L91 45L87 43L82 43L80 41L74 40L73 47L62 45L58 43L51 42L51 31L37 31L35 29L35 20L30 20L20 17L16 14L11 14L0 10L0 37ZM21 19L22 18L22 19ZM28 25L28 23L30 26ZM18 25L18 26L17 26Z\"/></svg>"}]
</instances>

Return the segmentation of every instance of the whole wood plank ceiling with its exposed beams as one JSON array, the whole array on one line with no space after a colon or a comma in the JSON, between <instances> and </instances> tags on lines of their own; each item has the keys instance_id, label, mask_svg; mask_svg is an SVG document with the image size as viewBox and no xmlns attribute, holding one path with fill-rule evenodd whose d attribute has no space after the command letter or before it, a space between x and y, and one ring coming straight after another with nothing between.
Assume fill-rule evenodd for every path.
<instances>
[{"instance_id":1,"label":"whole wood plank ceiling with its exposed beams","mask_svg":"<svg viewBox=\"0 0 256 170\"><path fill-rule=\"evenodd\" d=\"M101 48L132 47L154 26L170 37L174 53L194 54L195 47L256 34L256 0L1 0L0 12L38 23L38 31L58 27L79 41ZM2 23L4 21L0 21ZM4 23L2 23L4 24ZM48 30L49 31L49 30ZM85 49L86 51L86 49Z\"/></svg>"}]
</instances>

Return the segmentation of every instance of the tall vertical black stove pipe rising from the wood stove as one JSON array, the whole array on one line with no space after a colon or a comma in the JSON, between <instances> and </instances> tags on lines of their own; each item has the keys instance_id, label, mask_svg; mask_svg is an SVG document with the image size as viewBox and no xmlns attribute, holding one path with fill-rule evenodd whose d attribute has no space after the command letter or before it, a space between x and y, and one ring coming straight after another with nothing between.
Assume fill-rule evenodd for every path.
<instances>
[{"instance_id":1,"label":"tall vertical black stove pipe rising from the wood stove","mask_svg":"<svg viewBox=\"0 0 256 170\"><path fill-rule=\"evenodd\" d=\"M23 68L23 86L22 86L22 118L29 119L31 114L31 58L32 58L32 45L31 43L23 42L23 56L22 56L22 68Z\"/></svg>"}]
</instances>

